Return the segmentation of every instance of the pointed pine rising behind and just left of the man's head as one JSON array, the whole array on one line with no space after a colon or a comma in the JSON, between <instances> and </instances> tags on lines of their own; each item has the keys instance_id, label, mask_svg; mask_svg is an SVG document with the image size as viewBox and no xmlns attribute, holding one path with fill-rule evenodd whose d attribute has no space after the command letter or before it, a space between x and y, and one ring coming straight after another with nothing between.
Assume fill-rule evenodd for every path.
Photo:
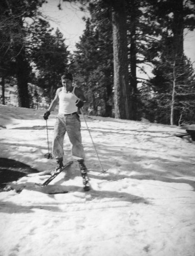
<instances>
[{"instance_id":1,"label":"pointed pine rising behind and just left of the man's head","mask_svg":"<svg viewBox=\"0 0 195 256\"><path fill-rule=\"evenodd\" d=\"M37 35L38 32L38 37ZM59 29L52 34L52 29L46 20L39 19L31 25L33 48L31 57L35 64L37 85L45 90L49 101L55 91L61 86L61 75L68 69L69 51L65 39Z\"/></svg>"}]
</instances>

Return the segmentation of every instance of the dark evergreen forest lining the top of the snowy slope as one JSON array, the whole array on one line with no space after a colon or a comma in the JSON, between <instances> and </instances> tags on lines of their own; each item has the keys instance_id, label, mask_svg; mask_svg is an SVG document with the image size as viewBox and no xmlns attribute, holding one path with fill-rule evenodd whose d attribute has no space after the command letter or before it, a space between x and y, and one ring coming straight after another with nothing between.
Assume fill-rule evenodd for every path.
<instances>
[{"instance_id":1,"label":"dark evergreen forest lining the top of the snowy slope","mask_svg":"<svg viewBox=\"0 0 195 256\"><path fill-rule=\"evenodd\" d=\"M68 2L90 13L73 53L40 12L47 1L1 0L1 104L11 104L9 86L16 87L18 106L47 108L69 71L87 98L85 114L195 123L195 73L184 53L185 33L195 29L195 0Z\"/></svg>"}]
</instances>

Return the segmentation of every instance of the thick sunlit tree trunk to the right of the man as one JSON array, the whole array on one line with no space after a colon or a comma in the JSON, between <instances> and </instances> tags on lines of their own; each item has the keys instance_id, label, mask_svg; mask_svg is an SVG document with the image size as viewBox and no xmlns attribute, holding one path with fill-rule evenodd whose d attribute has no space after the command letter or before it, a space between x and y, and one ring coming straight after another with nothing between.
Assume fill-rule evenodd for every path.
<instances>
[{"instance_id":1,"label":"thick sunlit tree trunk to the right of the man","mask_svg":"<svg viewBox=\"0 0 195 256\"><path fill-rule=\"evenodd\" d=\"M131 119L125 2L124 0L114 0L112 5L115 118Z\"/></svg>"}]
</instances>

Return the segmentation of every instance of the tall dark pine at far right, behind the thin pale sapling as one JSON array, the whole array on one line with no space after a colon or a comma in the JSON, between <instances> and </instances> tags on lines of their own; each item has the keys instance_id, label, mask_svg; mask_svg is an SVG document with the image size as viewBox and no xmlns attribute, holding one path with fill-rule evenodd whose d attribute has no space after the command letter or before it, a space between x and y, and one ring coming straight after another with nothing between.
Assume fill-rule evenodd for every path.
<instances>
[{"instance_id":1,"label":"tall dark pine at far right, behind the thin pale sapling","mask_svg":"<svg viewBox=\"0 0 195 256\"><path fill-rule=\"evenodd\" d=\"M150 47L146 46L145 50L143 49L145 61L154 65L153 74L155 77L148 81L148 85L154 90L154 100L157 99L157 120L164 123L178 124L184 109L181 107L181 101L178 103L177 93L172 94L174 92L172 89L174 84L177 89L178 84L186 84L186 74L190 73L188 71L188 61L184 55L183 31L184 28L193 30L195 26L195 19L191 15L194 13L194 1L166 0L156 3L156 1L148 0L148 3L153 13L151 15L151 12L149 12L151 21L157 24L157 30L155 29L156 38L154 37L155 33L152 35L156 40L151 41ZM161 33L158 33L159 29ZM182 93L183 95L188 94L187 88L190 87L187 87L187 84L184 87L186 91ZM175 104L171 103L172 99L174 99ZM169 111L170 105L172 105L171 112ZM189 117L189 120L191 120L191 117Z\"/></svg>"}]
</instances>

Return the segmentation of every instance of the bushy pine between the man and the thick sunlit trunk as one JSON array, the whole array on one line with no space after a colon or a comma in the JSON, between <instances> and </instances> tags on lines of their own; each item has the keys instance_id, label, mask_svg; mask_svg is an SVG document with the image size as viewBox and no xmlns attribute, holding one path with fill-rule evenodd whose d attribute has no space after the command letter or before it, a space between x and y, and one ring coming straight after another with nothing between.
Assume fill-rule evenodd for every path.
<instances>
[{"instance_id":1,"label":"bushy pine between the man and the thick sunlit trunk","mask_svg":"<svg viewBox=\"0 0 195 256\"><path fill-rule=\"evenodd\" d=\"M104 25L97 28L91 19L86 20L84 33L76 44L72 69L75 82L82 86L88 98L89 111L112 116L112 34L107 33Z\"/></svg>"}]
</instances>

